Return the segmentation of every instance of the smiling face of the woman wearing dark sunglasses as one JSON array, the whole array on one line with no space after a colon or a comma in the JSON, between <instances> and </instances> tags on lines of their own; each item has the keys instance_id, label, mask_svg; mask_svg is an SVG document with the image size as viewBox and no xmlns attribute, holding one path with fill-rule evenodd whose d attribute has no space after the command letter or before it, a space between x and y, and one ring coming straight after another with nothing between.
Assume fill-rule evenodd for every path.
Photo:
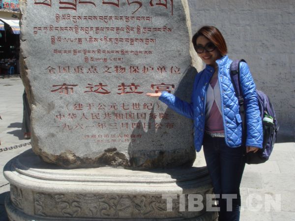
<instances>
[{"instance_id":1,"label":"smiling face of the woman wearing dark sunglasses","mask_svg":"<svg viewBox=\"0 0 295 221\"><path fill-rule=\"evenodd\" d=\"M196 43L197 43L197 48L198 46L200 49L202 49L203 47L202 53L197 52L200 58L202 59L202 61L208 65L216 67L216 60L222 57L220 52L216 48L216 46L214 46L214 44L210 42L209 39L203 35L197 38ZM208 49L209 51L207 51L206 49Z\"/></svg>"}]
</instances>

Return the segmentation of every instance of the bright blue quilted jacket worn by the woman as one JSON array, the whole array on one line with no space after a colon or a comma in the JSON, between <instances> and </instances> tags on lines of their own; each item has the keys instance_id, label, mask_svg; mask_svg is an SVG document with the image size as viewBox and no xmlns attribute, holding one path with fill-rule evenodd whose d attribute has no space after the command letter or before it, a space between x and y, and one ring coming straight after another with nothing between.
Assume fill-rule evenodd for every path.
<instances>
[{"instance_id":1,"label":"bright blue quilted jacket worn by the woman","mask_svg":"<svg viewBox=\"0 0 295 221\"><path fill-rule=\"evenodd\" d=\"M230 77L228 56L217 60L218 78L221 94L221 106L225 142L229 147L239 147L242 143L242 120L239 114L238 101ZM195 77L191 103L183 101L175 95L163 92L159 100L166 103L177 113L194 121L194 143L197 152L201 150L205 129L206 93L210 79L214 73L212 66L206 68ZM241 89L244 95L246 146L262 148L263 132L260 111L258 107L255 84L247 63L240 65Z\"/></svg>"}]
</instances>

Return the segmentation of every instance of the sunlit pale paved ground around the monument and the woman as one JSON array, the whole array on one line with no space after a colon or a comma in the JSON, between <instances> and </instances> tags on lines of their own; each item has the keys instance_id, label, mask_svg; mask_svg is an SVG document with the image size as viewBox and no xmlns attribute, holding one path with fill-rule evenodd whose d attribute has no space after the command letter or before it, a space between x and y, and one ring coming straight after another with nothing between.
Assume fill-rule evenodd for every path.
<instances>
[{"instance_id":1,"label":"sunlit pale paved ground around the monument and the woman","mask_svg":"<svg viewBox=\"0 0 295 221\"><path fill-rule=\"evenodd\" d=\"M19 77L0 79L0 151L28 143L21 132L24 87ZM18 147L17 146L17 147ZM0 152L0 171L11 158L30 145ZM204 164L198 154L197 165ZM8 181L0 172L0 221L7 221L4 198ZM241 184L240 221L295 221L295 143L279 143L271 158L261 165L246 165Z\"/></svg>"}]
</instances>

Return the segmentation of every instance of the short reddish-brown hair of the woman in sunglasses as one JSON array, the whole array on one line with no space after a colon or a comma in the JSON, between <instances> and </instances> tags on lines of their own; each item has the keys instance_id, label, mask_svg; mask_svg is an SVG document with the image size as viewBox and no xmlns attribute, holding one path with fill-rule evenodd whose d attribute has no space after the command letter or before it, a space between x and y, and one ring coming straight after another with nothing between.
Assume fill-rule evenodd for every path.
<instances>
[{"instance_id":1,"label":"short reddish-brown hair of the woman in sunglasses","mask_svg":"<svg viewBox=\"0 0 295 221\"><path fill-rule=\"evenodd\" d=\"M211 41L217 47L222 56L227 54L227 46L225 40L221 32L219 32L219 30L213 26L203 26L201 29L199 29L198 32L194 34L192 41L195 50L197 46L197 38L201 35L207 37L209 41Z\"/></svg>"}]
</instances>

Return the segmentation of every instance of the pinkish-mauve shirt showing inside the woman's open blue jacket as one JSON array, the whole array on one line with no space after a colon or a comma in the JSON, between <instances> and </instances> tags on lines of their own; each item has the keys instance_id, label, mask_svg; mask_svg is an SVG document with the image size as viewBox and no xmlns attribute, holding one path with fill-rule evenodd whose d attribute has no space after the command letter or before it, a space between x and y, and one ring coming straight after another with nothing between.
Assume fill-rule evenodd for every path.
<instances>
[{"instance_id":1,"label":"pinkish-mauve shirt showing inside the woman's open blue jacket","mask_svg":"<svg viewBox=\"0 0 295 221\"><path fill-rule=\"evenodd\" d=\"M211 87L214 89L217 83L217 75L210 81ZM218 110L217 104L214 100L212 108L206 119L205 131L208 133L224 133L222 116Z\"/></svg>"}]
</instances>

